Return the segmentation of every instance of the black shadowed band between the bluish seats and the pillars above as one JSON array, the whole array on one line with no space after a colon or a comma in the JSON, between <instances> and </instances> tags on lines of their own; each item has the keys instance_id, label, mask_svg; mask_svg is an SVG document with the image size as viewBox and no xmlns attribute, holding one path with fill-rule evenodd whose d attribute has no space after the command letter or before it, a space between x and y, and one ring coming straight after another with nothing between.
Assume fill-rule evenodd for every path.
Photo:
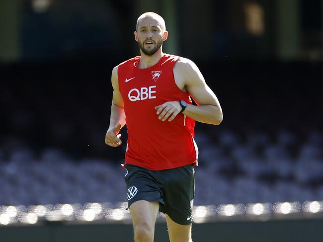
<instances>
[{"instance_id":1,"label":"black shadowed band between the bluish seats and the pillars above","mask_svg":"<svg viewBox=\"0 0 323 242\"><path fill-rule=\"evenodd\" d=\"M224 113L219 127L196 125L201 132L214 129L215 141L221 130L242 138L262 131L271 139L282 130L300 137L311 130L322 132L319 63L196 63ZM1 146L28 146L35 151L50 146L76 158L115 155L122 159L125 147L104 144L112 97L110 73L117 64L100 60L2 67Z\"/></svg>"}]
</instances>

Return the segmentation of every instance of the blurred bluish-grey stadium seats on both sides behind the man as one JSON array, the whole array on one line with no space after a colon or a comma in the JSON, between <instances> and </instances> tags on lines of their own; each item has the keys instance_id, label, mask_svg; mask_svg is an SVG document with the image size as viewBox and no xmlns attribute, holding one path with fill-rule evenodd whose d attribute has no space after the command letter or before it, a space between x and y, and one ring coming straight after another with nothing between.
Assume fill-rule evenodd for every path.
<instances>
[{"instance_id":1,"label":"blurred bluish-grey stadium seats on both sides behind the man","mask_svg":"<svg viewBox=\"0 0 323 242\"><path fill-rule=\"evenodd\" d=\"M196 134L200 146L196 205L323 200L319 131L302 140L282 132L275 137L278 144L264 133L248 136L246 142L232 132L218 136L214 141L205 132ZM289 144L298 144L296 157ZM0 154L2 205L126 200L125 170L116 161L76 160L55 148L35 154L27 147L2 147Z\"/></svg>"}]
</instances>

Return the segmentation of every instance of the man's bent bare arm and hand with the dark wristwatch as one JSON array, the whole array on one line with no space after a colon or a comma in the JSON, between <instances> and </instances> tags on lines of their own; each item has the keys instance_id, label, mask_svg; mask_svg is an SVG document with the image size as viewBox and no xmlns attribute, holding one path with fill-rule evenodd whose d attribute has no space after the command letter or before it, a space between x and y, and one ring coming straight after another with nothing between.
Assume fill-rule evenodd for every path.
<instances>
[{"instance_id":1,"label":"man's bent bare arm and hand with the dark wristwatch","mask_svg":"<svg viewBox=\"0 0 323 242\"><path fill-rule=\"evenodd\" d=\"M203 75L197 66L190 60L181 58L174 66L176 84L182 85L193 97L196 105L187 104L183 114L202 123L219 125L223 114L218 98L210 87L205 83ZM179 86L181 88L181 86ZM172 121L180 112L181 106L178 101L165 102L157 107L159 119Z\"/></svg>"}]
</instances>

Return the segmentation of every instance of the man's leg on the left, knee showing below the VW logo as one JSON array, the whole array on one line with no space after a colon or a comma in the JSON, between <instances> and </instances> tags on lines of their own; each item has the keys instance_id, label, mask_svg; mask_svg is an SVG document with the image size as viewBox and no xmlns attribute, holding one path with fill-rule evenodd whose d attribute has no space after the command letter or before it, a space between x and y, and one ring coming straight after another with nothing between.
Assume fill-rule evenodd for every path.
<instances>
[{"instance_id":1,"label":"man's leg on the left, knee showing below the VW logo","mask_svg":"<svg viewBox=\"0 0 323 242\"><path fill-rule=\"evenodd\" d=\"M139 200L129 207L135 242L153 242L159 202Z\"/></svg>"}]
</instances>

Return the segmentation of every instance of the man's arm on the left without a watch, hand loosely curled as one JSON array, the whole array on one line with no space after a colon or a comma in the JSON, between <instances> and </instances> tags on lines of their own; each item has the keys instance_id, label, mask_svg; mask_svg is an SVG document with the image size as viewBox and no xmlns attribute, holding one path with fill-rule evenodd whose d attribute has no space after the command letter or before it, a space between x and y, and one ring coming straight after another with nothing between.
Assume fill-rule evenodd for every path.
<instances>
[{"instance_id":1,"label":"man's arm on the left without a watch, hand loosely curled","mask_svg":"<svg viewBox=\"0 0 323 242\"><path fill-rule=\"evenodd\" d=\"M118 82L118 67L113 68L111 75L111 82L113 87L111 116L109 129L105 135L105 144L117 147L121 145L121 134L118 134L121 128L126 124L126 116L124 113L124 102L119 91Z\"/></svg>"}]
</instances>

